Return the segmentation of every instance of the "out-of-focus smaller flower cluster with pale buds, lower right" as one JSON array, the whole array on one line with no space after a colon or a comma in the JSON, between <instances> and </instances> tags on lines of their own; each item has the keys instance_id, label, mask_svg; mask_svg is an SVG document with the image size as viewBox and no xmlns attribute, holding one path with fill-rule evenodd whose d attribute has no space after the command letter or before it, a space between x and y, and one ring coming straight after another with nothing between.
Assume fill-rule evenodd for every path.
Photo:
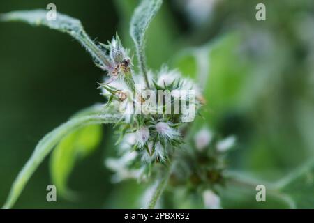
<instances>
[{"instance_id":1,"label":"out-of-focus smaller flower cluster with pale buds, lower right","mask_svg":"<svg viewBox=\"0 0 314 223\"><path fill-rule=\"evenodd\" d=\"M218 188L225 185L225 155L234 147L236 138L218 137L202 128L193 136L188 149L179 153L170 185L183 187L187 193L202 194L205 208L220 208ZM192 148L190 148L192 147Z\"/></svg>"}]
</instances>

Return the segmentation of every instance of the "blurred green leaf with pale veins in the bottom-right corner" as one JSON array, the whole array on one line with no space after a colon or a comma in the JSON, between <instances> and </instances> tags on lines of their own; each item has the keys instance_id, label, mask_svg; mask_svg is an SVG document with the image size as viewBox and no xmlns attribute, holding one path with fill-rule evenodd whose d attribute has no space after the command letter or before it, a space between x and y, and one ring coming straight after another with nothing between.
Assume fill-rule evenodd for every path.
<instances>
[{"instance_id":1,"label":"blurred green leaf with pale veins in the bottom-right corner","mask_svg":"<svg viewBox=\"0 0 314 223\"><path fill-rule=\"evenodd\" d=\"M220 190L223 208L314 208L314 159L290 171L275 183L230 171L225 188ZM266 187L266 202L255 200L255 187Z\"/></svg>"}]
</instances>

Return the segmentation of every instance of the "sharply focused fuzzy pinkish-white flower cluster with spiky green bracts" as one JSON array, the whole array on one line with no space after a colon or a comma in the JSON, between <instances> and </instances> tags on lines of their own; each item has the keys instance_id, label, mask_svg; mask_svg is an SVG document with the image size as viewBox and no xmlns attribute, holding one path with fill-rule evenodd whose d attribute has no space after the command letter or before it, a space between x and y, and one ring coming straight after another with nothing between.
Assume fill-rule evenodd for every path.
<instances>
[{"instance_id":1,"label":"sharply focused fuzzy pinkish-white flower cluster with spiky green bracts","mask_svg":"<svg viewBox=\"0 0 314 223\"><path fill-rule=\"evenodd\" d=\"M150 173L151 165L167 164L173 151L183 143L181 128L188 112L181 110L182 103L193 106L195 110L201 106L199 100L190 100L190 95L176 104L180 96L176 92L195 91L197 98L200 91L180 72L165 67L157 74L149 71L147 86L141 75L133 70L128 50L122 47L119 38L114 38L103 48L109 51L111 64L103 67L107 77L100 84L100 89L108 100L107 108L121 114L116 128L119 134L117 144L122 155L119 159L106 160L105 164L116 172L114 181L119 181L117 178L139 179ZM169 92L170 97L159 95L159 91ZM165 103L167 99L168 103ZM141 108L139 113L135 111L137 105ZM179 112L174 112L175 109Z\"/></svg>"}]
</instances>

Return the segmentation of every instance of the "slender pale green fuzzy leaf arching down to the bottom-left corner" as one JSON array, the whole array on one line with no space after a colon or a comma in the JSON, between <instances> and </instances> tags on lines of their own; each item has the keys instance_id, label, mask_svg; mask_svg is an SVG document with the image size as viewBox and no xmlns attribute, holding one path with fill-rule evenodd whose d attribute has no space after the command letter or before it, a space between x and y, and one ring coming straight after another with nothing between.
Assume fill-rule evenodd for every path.
<instances>
[{"instance_id":1,"label":"slender pale green fuzzy leaf arching down to the bottom-left corner","mask_svg":"<svg viewBox=\"0 0 314 223\"><path fill-rule=\"evenodd\" d=\"M33 154L15 179L3 208L11 208L14 205L29 178L31 178L40 163L43 162L45 157L52 151L54 146L56 146L59 141L63 139L63 137L66 137L67 134L70 134L71 132L86 125L116 123L120 118L120 116L115 114L99 115L100 112L103 112L103 107L98 107L98 109L98 114L94 114L95 107L92 107L91 111L93 113L91 115L86 114L85 111L84 115L70 119L58 128L52 130L52 132L46 134L45 137L38 142Z\"/></svg>"}]
</instances>

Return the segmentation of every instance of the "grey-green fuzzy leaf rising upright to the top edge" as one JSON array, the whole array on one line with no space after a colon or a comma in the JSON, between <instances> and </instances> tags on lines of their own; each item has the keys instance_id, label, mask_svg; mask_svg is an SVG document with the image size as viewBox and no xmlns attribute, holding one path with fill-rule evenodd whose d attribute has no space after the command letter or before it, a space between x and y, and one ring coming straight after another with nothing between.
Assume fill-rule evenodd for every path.
<instances>
[{"instance_id":1,"label":"grey-green fuzzy leaf rising upright to the top edge","mask_svg":"<svg viewBox=\"0 0 314 223\"><path fill-rule=\"evenodd\" d=\"M147 68L144 54L145 33L162 3L162 0L142 0L140 5L135 9L130 22L130 35L135 43L137 60L147 85L149 85L149 81L147 79Z\"/></svg>"}]
</instances>

